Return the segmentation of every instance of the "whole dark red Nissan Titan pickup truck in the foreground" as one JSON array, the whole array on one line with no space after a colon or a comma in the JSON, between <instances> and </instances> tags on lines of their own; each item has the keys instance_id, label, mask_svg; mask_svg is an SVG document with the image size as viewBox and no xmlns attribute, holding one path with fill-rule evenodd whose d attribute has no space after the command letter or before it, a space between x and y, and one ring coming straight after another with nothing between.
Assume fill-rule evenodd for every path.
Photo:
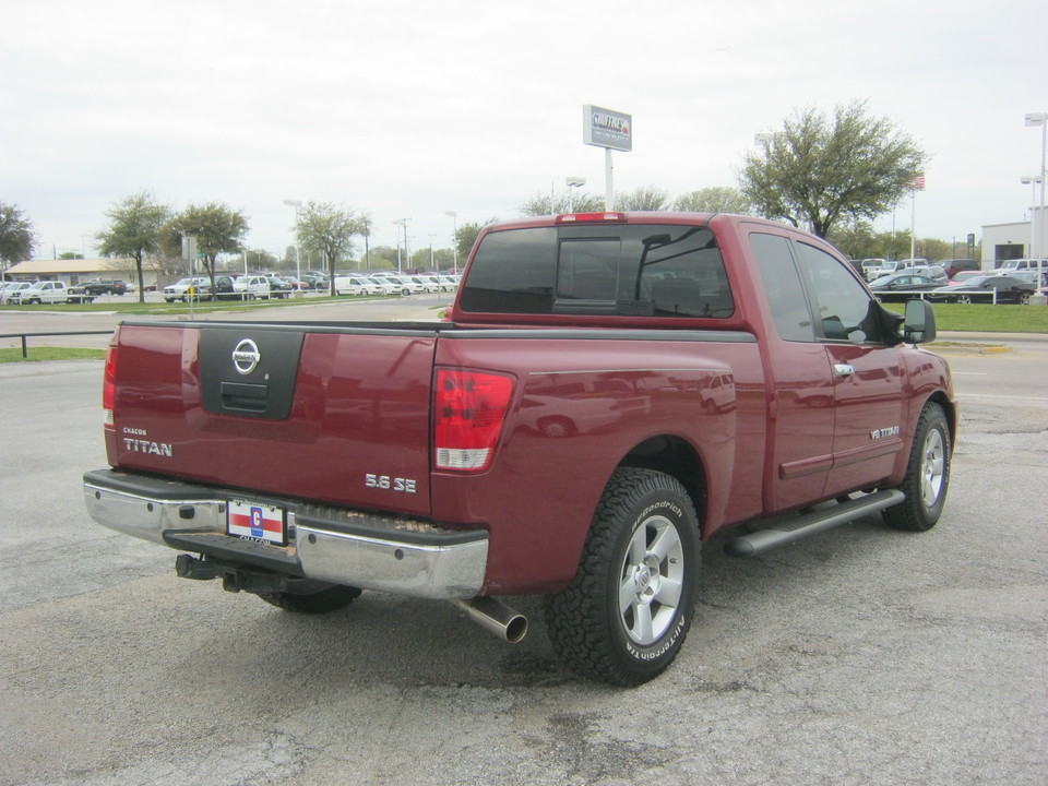
<instances>
[{"instance_id":1,"label":"whole dark red Nissan Titan pickup truck in the foreground","mask_svg":"<svg viewBox=\"0 0 1048 786\"><path fill-rule=\"evenodd\" d=\"M878 511L936 524L957 414L934 335L772 222L500 223L443 322L123 322L84 495L180 575L290 610L444 598L515 641L498 596L543 594L570 667L638 684L718 531L747 556Z\"/></svg>"}]
</instances>

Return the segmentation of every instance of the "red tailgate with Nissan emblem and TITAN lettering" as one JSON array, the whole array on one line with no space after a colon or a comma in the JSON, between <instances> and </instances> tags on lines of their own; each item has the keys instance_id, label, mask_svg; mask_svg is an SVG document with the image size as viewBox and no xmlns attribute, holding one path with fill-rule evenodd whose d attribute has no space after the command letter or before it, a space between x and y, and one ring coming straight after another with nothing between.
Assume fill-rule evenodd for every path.
<instances>
[{"instance_id":1,"label":"red tailgate with Nissan emblem and TITAN lettering","mask_svg":"<svg viewBox=\"0 0 1048 786\"><path fill-rule=\"evenodd\" d=\"M114 466L429 513L436 330L124 323L117 341Z\"/></svg>"}]
</instances>

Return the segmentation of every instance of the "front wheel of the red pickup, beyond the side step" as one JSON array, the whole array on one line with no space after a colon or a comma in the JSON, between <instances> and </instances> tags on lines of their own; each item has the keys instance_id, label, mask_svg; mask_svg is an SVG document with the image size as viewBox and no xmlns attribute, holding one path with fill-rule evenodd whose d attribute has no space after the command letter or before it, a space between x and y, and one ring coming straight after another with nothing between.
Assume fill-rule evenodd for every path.
<instances>
[{"instance_id":1,"label":"front wheel of the red pickup, beyond the side step","mask_svg":"<svg viewBox=\"0 0 1048 786\"><path fill-rule=\"evenodd\" d=\"M900 490L906 500L884 511L884 521L895 529L925 532L942 515L950 486L950 425L938 404L928 403L917 421L914 446Z\"/></svg>"}]
</instances>

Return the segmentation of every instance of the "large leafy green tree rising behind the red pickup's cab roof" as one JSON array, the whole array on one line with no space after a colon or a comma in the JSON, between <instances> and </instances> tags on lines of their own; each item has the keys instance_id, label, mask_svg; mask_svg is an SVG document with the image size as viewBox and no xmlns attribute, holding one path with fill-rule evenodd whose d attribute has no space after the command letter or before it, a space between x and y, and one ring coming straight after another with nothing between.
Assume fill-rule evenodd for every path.
<instances>
[{"instance_id":1,"label":"large leafy green tree rising behind the red pickup's cab roof","mask_svg":"<svg viewBox=\"0 0 1048 786\"><path fill-rule=\"evenodd\" d=\"M826 237L846 218L892 210L921 171L926 154L895 126L867 114L864 103L795 112L781 131L761 134L748 153L740 188L757 210Z\"/></svg>"}]
</instances>

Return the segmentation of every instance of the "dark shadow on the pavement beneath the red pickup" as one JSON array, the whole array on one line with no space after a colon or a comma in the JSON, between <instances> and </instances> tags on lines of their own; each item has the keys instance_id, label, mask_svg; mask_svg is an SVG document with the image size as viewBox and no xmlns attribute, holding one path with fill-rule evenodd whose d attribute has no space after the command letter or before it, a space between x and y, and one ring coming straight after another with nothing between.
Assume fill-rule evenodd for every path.
<instances>
[{"instance_id":1,"label":"dark shadow on the pavement beneath the red pickup","mask_svg":"<svg viewBox=\"0 0 1048 786\"><path fill-rule=\"evenodd\" d=\"M803 612L812 604L856 603L861 571L893 551L893 544L905 548L912 536L888 531L874 515L749 559L724 553L728 537L717 534L704 546L696 619L678 663L693 662L698 668L708 663L712 633L730 638L733 630L782 622L782 615ZM491 688L585 682L560 665L538 596L503 598L528 618L527 635L514 645L443 602L365 592L344 609L310 616L282 611L247 594L222 597L217 586L195 592L214 593L215 603L234 602L238 608L236 634L215 640L206 659L193 664L203 674L227 671L236 679L229 665L237 664L251 679L276 680L291 663L297 679L318 688L357 680ZM251 642L250 652L243 641Z\"/></svg>"}]
</instances>

